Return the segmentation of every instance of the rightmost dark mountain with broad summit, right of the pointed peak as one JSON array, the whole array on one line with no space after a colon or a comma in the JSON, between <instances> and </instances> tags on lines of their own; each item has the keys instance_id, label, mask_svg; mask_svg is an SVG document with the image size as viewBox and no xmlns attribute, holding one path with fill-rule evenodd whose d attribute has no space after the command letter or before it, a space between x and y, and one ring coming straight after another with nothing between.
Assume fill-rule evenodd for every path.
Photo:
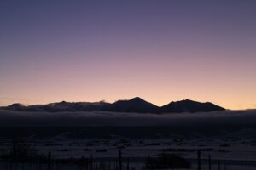
<instances>
[{"instance_id":1,"label":"rightmost dark mountain with broad summit, right of the pointed peak","mask_svg":"<svg viewBox=\"0 0 256 170\"><path fill-rule=\"evenodd\" d=\"M208 111L224 111L225 109L223 107L220 107L218 105L214 105L210 102L201 103L192 101L189 99L177 101L177 102L171 102L168 105L163 105L160 108L161 112L166 113L181 113L181 112L208 112Z\"/></svg>"}]
</instances>

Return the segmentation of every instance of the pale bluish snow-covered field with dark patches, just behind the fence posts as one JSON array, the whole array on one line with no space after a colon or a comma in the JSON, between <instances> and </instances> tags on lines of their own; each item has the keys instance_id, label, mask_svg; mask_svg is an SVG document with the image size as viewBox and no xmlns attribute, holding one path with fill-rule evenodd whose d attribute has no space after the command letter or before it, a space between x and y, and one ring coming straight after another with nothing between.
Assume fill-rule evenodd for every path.
<instances>
[{"instance_id":1,"label":"pale bluish snow-covered field with dark patches, just behind the fence posts","mask_svg":"<svg viewBox=\"0 0 256 170\"><path fill-rule=\"evenodd\" d=\"M31 140L31 141L29 141ZM1 148L10 150L10 139L1 140ZM175 153L188 158L193 167L197 167L197 152L201 150L202 169L208 168L208 156L212 157L212 169L255 169L256 141L247 139L67 139L63 136L49 139L28 139L28 144L53 158L79 158L93 156L97 160L116 161L118 151L122 150L124 160L129 157L132 165L135 161L143 163L147 156L160 153ZM132 163L133 162L133 163Z\"/></svg>"}]
</instances>

